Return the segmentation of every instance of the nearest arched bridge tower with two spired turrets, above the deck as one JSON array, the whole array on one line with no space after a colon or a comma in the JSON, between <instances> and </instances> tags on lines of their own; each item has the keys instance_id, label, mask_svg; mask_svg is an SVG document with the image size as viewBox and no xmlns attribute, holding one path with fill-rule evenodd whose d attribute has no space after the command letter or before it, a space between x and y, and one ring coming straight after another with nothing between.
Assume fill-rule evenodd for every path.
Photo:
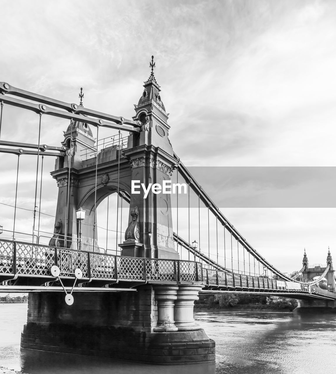
<instances>
[{"instance_id":1,"label":"nearest arched bridge tower with two spired turrets, above the deck","mask_svg":"<svg viewBox=\"0 0 336 374\"><path fill-rule=\"evenodd\" d=\"M59 187L55 236L66 232L69 238L78 237L76 210L82 207L86 211L82 226L83 250L99 252L97 206L109 194L126 192L130 196L129 226L125 241L119 244L122 255L179 258L173 240L170 195L155 194L150 190L144 198L142 188L139 194L131 193L132 181L146 187L156 183L162 186L163 181L170 180L177 162L168 139L168 114L153 73L153 56L151 67L143 93L134 105L133 119L139 124L138 132L129 135L126 149L119 149L119 144L113 145L101 150L96 159L97 139L88 124L71 122L64 132L62 145L67 148L66 155L58 157L55 171L51 172ZM81 91L80 106L82 96ZM74 248L74 241L68 240L66 246Z\"/></svg>"}]
</instances>

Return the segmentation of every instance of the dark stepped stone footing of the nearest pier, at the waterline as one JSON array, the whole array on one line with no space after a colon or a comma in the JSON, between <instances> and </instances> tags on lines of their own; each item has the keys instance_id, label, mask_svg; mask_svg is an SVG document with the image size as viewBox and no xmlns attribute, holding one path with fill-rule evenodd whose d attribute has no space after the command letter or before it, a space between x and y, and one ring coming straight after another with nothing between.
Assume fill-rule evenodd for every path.
<instances>
[{"instance_id":1,"label":"dark stepped stone footing of the nearest pier, at the waterline","mask_svg":"<svg viewBox=\"0 0 336 374\"><path fill-rule=\"evenodd\" d=\"M83 331L89 339L83 339ZM21 334L21 348L158 364L215 360L215 342L203 329L146 333L110 326L28 323Z\"/></svg>"}]
</instances>

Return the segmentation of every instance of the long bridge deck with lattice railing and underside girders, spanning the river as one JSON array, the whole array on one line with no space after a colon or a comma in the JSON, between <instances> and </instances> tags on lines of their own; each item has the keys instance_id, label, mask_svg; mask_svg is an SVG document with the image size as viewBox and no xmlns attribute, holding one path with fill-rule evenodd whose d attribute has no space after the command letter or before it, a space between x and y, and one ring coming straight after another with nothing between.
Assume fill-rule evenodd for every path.
<instances>
[{"instance_id":1,"label":"long bridge deck with lattice railing and underside girders, spanning the river","mask_svg":"<svg viewBox=\"0 0 336 374\"><path fill-rule=\"evenodd\" d=\"M335 300L336 292L314 285L286 282L207 269L196 261L124 257L47 245L0 240L1 290L59 291L51 267L59 267L65 287L71 287L79 268L83 278L74 291L125 291L144 283L201 282L204 292L255 292Z\"/></svg>"}]
</instances>

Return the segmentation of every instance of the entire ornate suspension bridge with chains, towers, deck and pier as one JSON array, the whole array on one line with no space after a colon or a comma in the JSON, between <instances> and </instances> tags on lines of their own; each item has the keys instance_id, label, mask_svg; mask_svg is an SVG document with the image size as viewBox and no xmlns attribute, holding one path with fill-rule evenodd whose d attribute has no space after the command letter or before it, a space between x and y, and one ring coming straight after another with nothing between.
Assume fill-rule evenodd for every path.
<instances>
[{"instance_id":1,"label":"entire ornate suspension bridge with chains, towers, deck and pier","mask_svg":"<svg viewBox=\"0 0 336 374\"><path fill-rule=\"evenodd\" d=\"M13 210L13 220L12 227L0 226L0 290L29 292L23 348L161 363L211 361L214 342L193 319L199 292L336 300L330 251L325 267L309 267L305 253L300 272L285 275L248 243L183 165L168 139L153 56L150 67L132 119L85 108L82 89L77 105L0 83L0 151L17 156L13 204L1 203ZM2 139L6 107L37 114L35 144ZM67 121L61 144L41 142L49 116ZM100 129L108 136L99 138ZM55 159L54 171L43 170L47 156ZM31 223L18 232L23 157L36 160L36 178ZM46 214L42 181L49 172L58 187L55 214L49 214L54 232L40 228ZM132 193L132 181L147 187L166 180L186 184L186 196L153 189L146 198L142 191ZM106 200L103 228L97 208ZM198 242L191 243L191 226ZM105 248L99 230L106 233Z\"/></svg>"}]
</instances>

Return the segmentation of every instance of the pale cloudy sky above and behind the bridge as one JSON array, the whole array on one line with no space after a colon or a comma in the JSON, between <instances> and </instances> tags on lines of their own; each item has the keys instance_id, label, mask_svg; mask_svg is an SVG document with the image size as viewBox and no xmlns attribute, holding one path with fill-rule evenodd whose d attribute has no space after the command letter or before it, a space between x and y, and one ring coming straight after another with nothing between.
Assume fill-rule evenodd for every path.
<instances>
[{"instance_id":1,"label":"pale cloudy sky above and behind the bridge","mask_svg":"<svg viewBox=\"0 0 336 374\"><path fill-rule=\"evenodd\" d=\"M175 153L248 242L283 272L300 269L304 248L311 264L326 263L328 246L336 256L335 1L0 0L0 8L0 81L66 102L83 87L85 107L131 118L154 55ZM59 145L67 126L45 119L41 141ZM37 129L36 114L4 107L1 140L36 143ZM27 209L31 157L20 158L18 181ZM9 205L16 162L1 154L0 202ZM42 212L53 215L48 172L43 186ZM13 209L1 206L0 218L11 230ZM42 217L41 229L53 225ZM16 227L31 231L30 211L17 213Z\"/></svg>"}]
</instances>

